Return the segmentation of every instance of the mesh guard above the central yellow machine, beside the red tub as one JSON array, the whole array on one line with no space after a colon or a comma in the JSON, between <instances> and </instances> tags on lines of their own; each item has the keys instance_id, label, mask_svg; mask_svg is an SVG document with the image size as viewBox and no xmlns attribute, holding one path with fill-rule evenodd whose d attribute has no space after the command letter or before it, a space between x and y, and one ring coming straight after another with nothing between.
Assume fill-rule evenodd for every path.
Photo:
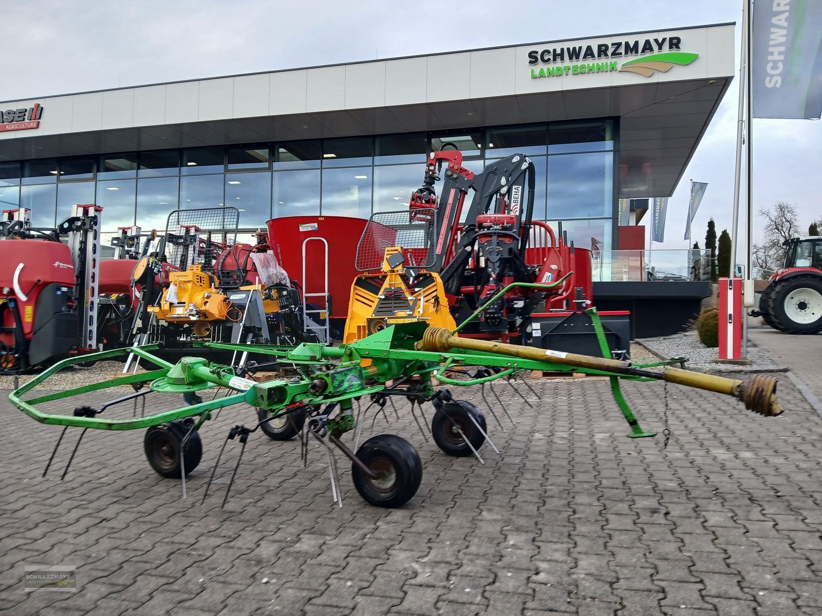
<instances>
[{"instance_id":1,"label":"mesh guard above the central yellow machine, beside the red tub","mask_svg":"<svg viewBox=\"0 0 822 616\"><path fill-rule=\"evenodd\" d=\"M357 246L360 272L381 269L386 248L400 246L405 264L428 268L434 262L434 209L377 212L368 220Z\"/></svg>"}]
</instances>

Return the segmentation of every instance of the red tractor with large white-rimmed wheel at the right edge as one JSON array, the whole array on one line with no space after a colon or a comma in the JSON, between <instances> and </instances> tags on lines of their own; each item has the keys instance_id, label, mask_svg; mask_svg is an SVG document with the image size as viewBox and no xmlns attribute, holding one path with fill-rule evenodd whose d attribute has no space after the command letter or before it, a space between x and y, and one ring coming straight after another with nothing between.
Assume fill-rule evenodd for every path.
<instances>
[{"instance_id":1,"label":"red tractor with large white-rimmed wheel at the right edge","mask_svg":"<svg viewBox=\"0 0 822 616\"><path fill-rule=\"evenodd\" d=\"M785 264L760 297L761 316L787 333L822 332L822 237L792 237L785 242Z\"/></svg>"}]
</instances>

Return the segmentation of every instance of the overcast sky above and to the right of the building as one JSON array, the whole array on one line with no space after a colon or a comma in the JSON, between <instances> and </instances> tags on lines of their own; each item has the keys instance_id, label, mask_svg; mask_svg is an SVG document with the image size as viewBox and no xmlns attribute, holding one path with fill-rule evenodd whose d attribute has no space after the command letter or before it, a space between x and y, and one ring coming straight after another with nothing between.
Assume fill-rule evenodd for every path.
<instances>
[{"instance_id":1,"label":"overcast sky above and to the right of the building","mask_svg":"<svg viewBox=\"0 0 822 616\"><path fill-rule=\"evenodd\" d=\"M375 57L739 24L742 2L40 0L19 7L4 21L0 100ZM737 25L737 41L739 36ZM688 179L709 182L694 223L700 246L709 217L717 221L718 231L730 231L738 88L734 79L672 195L664 248L686 246L682 232ZM777 200L794 203L805 231L812 219L822 218L822 122L756 120L754 129L755 209ZM757 218L754 237L760 233ZM737 260L744 261L741 253Z\"/></svg>"}]
</instances>

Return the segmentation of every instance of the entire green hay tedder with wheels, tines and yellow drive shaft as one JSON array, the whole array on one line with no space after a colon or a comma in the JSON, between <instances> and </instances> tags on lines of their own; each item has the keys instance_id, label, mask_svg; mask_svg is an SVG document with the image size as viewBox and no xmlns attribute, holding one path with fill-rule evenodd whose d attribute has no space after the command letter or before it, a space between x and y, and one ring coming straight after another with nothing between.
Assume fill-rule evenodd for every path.
<instances>
[{"instance_id":1,"label":"entire green hay tedder with wheels, tines and yellow drive shaft","mask_svg":"<svg viewBox=\"0 0 822 616\"><path fill-rule=\"evenodd\" d=\"M561 282L557 281L552 286ZM506 287L501 293L507 290ZM495 296L490 301L496 299L498 298ZM481 310L483 306L480 306L478 312ZM432 402L436 409L431 424L432 435L443 452L452 456L476 455L482 461L478 449L486 441L496 451L488 438L482 413L470 402L455 399L448 389L435 389L432 378L443 384L459 387L490 383L495 379L510 379L521 370L607 376L611 379L617 406L630 426L628 436L634 438L653 436L656 433L642 430L621 393L620 379L663 380L724 393L737 398L748 410L762 416L777 416L782 412L776 398L777 381L770 376L757 375L743 381L703 375L672 366L681 360L634 365L630 361L609 358L607 342L596 310L590 309L589 315L601 342L602 357L460 338L456 334L467 320L455 332L427 327L425 323L417 322L395 324L341 347L311 342L297 347L253 346L252 352L256 355L271 356L275 360L269 365L294 366L296 370L290 378L271 379L261 383L246 379L244 377L251 374L254 368L250 362L235 370L230 365L218 365L201 357L188 356L173 365L154 356L152 352L156 345L149 345L61 361L17 388L9 398L16 407L35 420L65 426L48 466L51 465L68 427L84 429L77 439L63 476L71 465L85 430L147 429L144 447L150 466L162 476L183 479L183 496L185 476L194 470L201 459L202 444L197 430L211 418L212 411L235 404L248 404L255 407L256 421L252 427L235 425L230 430L211 472L210 481L215 477L226 444L230 439L238 439L242 449L223 503L229 497L248 435L260 429L273 439L289 439L301 434L303 459L308 442L311 439L319 441L328 457L331 492L335 501L341 503L339 476L334 449L331 447L333 445L352 462L353 483L359 494L368 503L379 507L397 507L416 494L423 476L422 462L412 445L395 434L376 435L357 447L362 423L357 425L359 416L355 416L354 404L356 402L359 407L360 398L366 398L371 402L370 406L376 405L380 409L385 407L386 401L390 401L391 397L404 397L411 402L412 412L415 404L422 411L423 402ZM238 352L250 350L249 345L217 342L203 342L199 346ZM196 352L196 347L192 352ZM98 384L26 398L26 394L35 388L48 388L48 377L67 365L112 359L127 353L134 353L160 367ZM653 367L658 369L652 370ZM142 387L145 384L148 384L148 388ZM132 385L136 391L98 407L78 406L72 415L54 415L37 408L46 402L118 385ZM227 388L233 393L207 402L196 395L198 391L215 387ZM190 404L151 415L136 416L135 413L135 416L127 419L108 419L104 416L105 411L118 403L149 395L159 397L163 393L182 393ZM163 405L153 402L151 407ZM417 419L416 415L414 419ZM345 433L355 428L353 449L356 453L341 440ZM210 481L205 489L204 500Z\"/></svg>"}]
</instances>

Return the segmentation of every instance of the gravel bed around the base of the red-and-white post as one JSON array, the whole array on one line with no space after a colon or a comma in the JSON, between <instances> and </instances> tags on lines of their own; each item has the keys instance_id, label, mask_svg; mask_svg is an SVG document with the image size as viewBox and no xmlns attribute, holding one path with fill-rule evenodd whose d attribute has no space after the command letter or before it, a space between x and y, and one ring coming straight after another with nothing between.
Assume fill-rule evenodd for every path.
<instances>
[{"instance_id":1,"label":"gravel bed around the base of the red-and-white post","mask_svg":"<svg viewBox=\"0 0 822 616\"><path fill-rule=\"evenodd\" d=\"M705 347L695 331L676 333L665 338L641 338L637 342L664 359L687 357L686 367L697 372L787 372L788 370L787 366L779 365L763 348L757 347L750 341L748 342L750 365L722 364L711 361L717 358L718 349Z\"/></svg>"}]
</instances>

